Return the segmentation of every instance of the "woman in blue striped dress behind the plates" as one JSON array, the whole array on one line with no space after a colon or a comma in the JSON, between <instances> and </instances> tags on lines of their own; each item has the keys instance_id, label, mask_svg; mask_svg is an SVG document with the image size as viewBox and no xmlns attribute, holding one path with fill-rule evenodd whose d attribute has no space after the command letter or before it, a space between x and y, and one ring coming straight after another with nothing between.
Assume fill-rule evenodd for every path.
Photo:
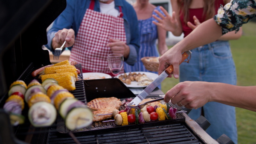
<instances>
[{"instance_id":1,"label":"woman in blue striped dress behind the plates","mask_svg":"<svg viewBox=\"0 0 256 144\"><path fill-rule=\"evenodd\" d=\"M137 0L132 6L134 7L139 21L140 50L137 56L137 62L134 66L128 63L124 64L125 72L151 72L145 69L141 58L152 56L159 57L159 53L163 55L168 50L166 46L166 30L152 23L152 21L157 21L152 17L152 14L156 14L154 10L160 12L161 10L159 6L156 7L149 3L149 0ZM157 40L158 50L156 46Z\"/></svg>"}]
</instances>

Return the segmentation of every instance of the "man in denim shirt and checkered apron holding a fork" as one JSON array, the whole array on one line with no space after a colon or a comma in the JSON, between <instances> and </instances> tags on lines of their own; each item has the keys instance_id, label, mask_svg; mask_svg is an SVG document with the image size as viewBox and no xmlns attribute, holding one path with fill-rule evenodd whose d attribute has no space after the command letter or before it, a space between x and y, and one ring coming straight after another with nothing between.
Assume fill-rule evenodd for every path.
<instances>
[{"instance_id":1,"label":"man in denim shirt and checkered apron holding a fork","mask_svg":"<svg viewBox=\"0 0 256 144\"><path fill-rule=\"evenodd\" d=\"M46 47L51 51L66 40L70 60L81 63L83 72L109 75L113 74L108 54L120 53L133 65L140 47L137 16L125 0L67 0L47 38Z\"/></svg>"}]
</instances>

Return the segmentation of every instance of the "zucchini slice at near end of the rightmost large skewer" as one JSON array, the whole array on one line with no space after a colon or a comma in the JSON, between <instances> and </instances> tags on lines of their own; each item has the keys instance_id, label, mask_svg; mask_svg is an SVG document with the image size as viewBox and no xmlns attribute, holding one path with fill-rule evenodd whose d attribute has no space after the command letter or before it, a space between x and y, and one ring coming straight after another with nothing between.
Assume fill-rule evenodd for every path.
<instances>
[{"instance_id":1,"label":"zucchini slice at near end of the rightmost large skewer","mask_svg":"<svg viewBox=\"0 0 256 144\"><path fill-rule=\"evenodd\" d=\"M65 118L65 125L69 130L88 127L92 122L93 114L87 107L75 107L67 113Z\"/></svg>"}]
</instances>

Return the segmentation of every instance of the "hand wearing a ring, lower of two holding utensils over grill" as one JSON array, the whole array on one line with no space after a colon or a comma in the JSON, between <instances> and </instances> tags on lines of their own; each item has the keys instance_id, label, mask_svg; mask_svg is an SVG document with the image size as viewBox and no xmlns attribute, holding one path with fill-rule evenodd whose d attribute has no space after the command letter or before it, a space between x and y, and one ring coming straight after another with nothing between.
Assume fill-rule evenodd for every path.
<instances>
[{"instance_id":1,"label":"hand wearing a ring, lower of two holding utensils over grill","mask_svg":"<svg viewBox=\"0 0 256 144\"><path fill-rule=\"evenodd\" d=\"M210 89L208 82L185 81L166 92L164 101L167 103L171 100L172 104L180 107L197 109L211 101Z\"/></svg>"}]
</instances>

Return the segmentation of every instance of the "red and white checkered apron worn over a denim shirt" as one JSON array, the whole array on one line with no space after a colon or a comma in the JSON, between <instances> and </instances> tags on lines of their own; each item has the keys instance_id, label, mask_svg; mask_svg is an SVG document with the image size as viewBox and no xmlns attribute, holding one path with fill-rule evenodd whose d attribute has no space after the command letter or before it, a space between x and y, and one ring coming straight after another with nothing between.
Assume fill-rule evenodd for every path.
<instances>
[{"instance_id":1,"label":"red and white checkered apron worn over a denim shirt","mask_svg":"<svg viewBox=\"0 0 256 144\"><path fill-rule=\"evenodd\" d=\"M93 11L94 2L91 0L90 7L84 14L71 50L70 61L81 63L83 72L102 72L113 76L107 60L112 51L106 45L110 43L109 38L126 43L122 9L119 6L121 17L114 17Z\"/></svg>"}]
</instances>

